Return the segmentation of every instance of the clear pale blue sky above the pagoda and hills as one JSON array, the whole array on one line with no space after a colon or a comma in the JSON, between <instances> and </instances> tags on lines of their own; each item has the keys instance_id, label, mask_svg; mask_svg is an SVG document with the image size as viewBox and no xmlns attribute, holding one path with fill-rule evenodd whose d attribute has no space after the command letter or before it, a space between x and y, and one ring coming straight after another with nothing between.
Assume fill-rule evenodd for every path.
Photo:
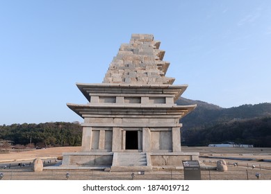
<instances>
[{"instance_id":1,"label":"clear pale blue sky above the pagoda and hills","mask_svg":"<svg viewBox=\"0 0 271 194\"><path fill-rule=\"evenodd\" d=\"M75 83L101 83L120 44L154 34L183 97L271 100L271 1L2 1L0 125L83 120Z\"/></svg>"}]
</instances>

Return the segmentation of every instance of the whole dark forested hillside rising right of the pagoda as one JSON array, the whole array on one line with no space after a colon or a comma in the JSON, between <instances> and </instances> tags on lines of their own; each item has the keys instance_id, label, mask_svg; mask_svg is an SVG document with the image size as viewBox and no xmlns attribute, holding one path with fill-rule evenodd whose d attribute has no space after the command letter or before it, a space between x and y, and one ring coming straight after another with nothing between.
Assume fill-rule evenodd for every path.
<instances>
[{"instance_id":1,"label":"whole dark forested hillside rising right of the pagoda","mask_svg":"<svg viewBox=\"0 0 271 194\"><path fill-rule=\"evenodd\" d=\"M271 103L231 108L186 98L180 98L176 103L197 104L193 112L181 118L182 140L186 145L235 141L271 147Z\"/></svg>"}]
</instances>

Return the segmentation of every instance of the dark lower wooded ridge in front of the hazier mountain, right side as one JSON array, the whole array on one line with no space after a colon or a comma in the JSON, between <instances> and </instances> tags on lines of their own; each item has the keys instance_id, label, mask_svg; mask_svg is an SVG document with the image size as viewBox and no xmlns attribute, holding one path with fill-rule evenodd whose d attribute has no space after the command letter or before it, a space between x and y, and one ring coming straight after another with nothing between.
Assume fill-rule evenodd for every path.
<instances>
[{"instance_id":1,"label":"dark lower wooded ridge in front of the hazier mountain, right side","mask_svg":"<svg viewBox=\"0 0 271 194\"><path fill-rule=\"evenodd\" d=\"M271 148L271 117L235 120L211 127L183 131L183 144L208 145L233 141L254 147Z\"/></svg>"}]
</instances>

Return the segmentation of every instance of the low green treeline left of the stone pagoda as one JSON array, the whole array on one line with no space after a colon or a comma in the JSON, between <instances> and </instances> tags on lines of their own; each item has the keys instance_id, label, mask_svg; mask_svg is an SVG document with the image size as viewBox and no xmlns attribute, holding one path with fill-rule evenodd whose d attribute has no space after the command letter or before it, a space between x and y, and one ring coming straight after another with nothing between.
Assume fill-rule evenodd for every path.
<instances>
[{"instance_id":1,"label":"low green treeline left of the stone pagoda","mask_svg":"<svg viewBox=\"0 0 271 194\"><path fill-rule=\"evenodd\" d=\"M79 123L23 123L0 125L0 140L13 145L34 145L38 148L81 145L82 128Z\"/></svg>"}]
</instances>

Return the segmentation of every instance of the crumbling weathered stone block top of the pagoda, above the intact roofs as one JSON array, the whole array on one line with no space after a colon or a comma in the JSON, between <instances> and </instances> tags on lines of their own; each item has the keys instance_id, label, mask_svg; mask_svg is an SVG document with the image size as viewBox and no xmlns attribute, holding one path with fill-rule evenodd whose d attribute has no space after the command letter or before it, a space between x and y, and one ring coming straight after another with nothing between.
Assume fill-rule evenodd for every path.
<instances>
[{"instance_id":1,"label":"crumbling weathered stone block top of the pagoda, above the intact roofs","mask_svg":"<svg viewBox=\"0 0 271 194\"><path fill-rule=\"evenodd\" d=\"M172 84L172 79L165 77L167 68L161 68L163 64L168 67L169 63L163 62L165 51L158 50L159 46L160 42L154 41L154 35L133 34L130 44L120 46L104 83ZM148 78L144 78L146 76Z\"/></svg>"}]
</instances>

